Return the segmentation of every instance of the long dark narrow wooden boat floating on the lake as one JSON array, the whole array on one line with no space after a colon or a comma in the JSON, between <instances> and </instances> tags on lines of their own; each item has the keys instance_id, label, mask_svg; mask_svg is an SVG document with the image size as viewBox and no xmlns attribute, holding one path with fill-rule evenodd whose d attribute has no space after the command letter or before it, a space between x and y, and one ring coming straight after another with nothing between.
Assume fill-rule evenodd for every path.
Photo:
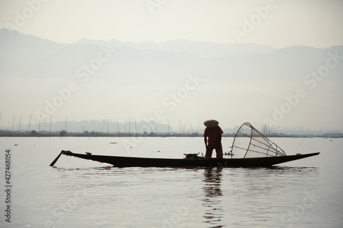
<instances>
[{"instance_id":1,"label":"long dark narrow wooden boat floating on the lake","mask_svg":"<svg viewBox=\"0 0 343 228\"><path fill-rule=\"evenodd\" d=\"M61 151L60 155L69 155L73 157L80 157L86 160L93 160L97 162L103 162L112 164L116 167L267 167L283 162L290 162L305 157L311 157L318 155L319 153L286 155L276 157L248 157L248 158L204 158L204 157L192 157L184 159L174 158L147 158L147 157L120 157L120 156L108 156L108 155L92 155L90 153L72 153L71 151ZM54 166L58 158L50 164Z\"/></svg>"}]
</instances>

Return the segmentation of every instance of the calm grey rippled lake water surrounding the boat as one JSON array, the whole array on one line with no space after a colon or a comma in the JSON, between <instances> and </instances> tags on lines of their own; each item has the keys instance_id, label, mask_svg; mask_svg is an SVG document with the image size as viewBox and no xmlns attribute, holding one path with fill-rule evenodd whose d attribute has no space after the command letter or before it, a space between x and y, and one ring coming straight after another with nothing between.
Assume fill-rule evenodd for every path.
<instances>
[{"instance_id":1,"label":"calm grey rippled lake water surrounding the boat","mask_svg":"<svg viewBox=\"0 0 343 228\"><path fill-rule=\"evenodd\" d=\"M181 158L204 153L204 142L0 138L0 227L343 227L343 139L271 140L288 155L321 153L274 168L115 168L64 155L50 167L62 149ZM223 138L224 152L232 141ZM5 203L6 149L10 203Z\"/></svg>"}]
</instances>

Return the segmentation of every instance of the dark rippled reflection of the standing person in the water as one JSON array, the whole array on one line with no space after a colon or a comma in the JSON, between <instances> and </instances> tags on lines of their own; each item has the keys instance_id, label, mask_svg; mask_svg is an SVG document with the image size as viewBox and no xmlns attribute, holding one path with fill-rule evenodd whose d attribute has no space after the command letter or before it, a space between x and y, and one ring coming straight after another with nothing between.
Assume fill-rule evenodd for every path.
<instances>
[{"instance_id":1,"label":"dark rippled reflection of the standing person in the water","mask_svg":"<svg viewBox=\"0 0 343 228\"><path fill-rule=\"evenodd\" d=\"M222 227L221 221L224 216L222 208L222 169L221 168L206 168L204 169L204 199L202 206L205 207L204 223Z\"/></svg>"}]
</instances>

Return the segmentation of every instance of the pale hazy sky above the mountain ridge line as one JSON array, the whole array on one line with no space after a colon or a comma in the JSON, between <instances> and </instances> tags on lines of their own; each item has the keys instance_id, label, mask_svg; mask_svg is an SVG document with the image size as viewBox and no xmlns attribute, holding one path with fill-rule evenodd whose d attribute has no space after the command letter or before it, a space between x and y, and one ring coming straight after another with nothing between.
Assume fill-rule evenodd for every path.
<instances>
[{"instance_id":1,"label":"pale hazy sky above the mountain ridge line","mask_svg":"<svg viewBox=\"0 0 343 228\"><path fill-rule=\"evenodd\" d=\"M187 39L251 42L278 49L294 45L324 48L343 45L342 12L341 0L1 0L0 29L10 28L23 34L66 43L82 38L115 38L124 42ZM89 90L95 88L91 84L84 88L88 86ZM254 85L248 86L254 88ZM224 95L226 90L222 91ZM180 109L180 113L187 114L187 110L186 107ZM0 124L12 126L14 110L1 109L1 112ZM107 110L107 113L110 112ZM229 109L225 112L230 118L233 111ZM132 110L132 113L138 112ZM91 118L106 118L106 113L103 116ZM60 116L58 120L63 118ZM225 127L233 127L233 123L235 119L230 119ZM323 121L320 125L311 126L309 121L305 127L327 129L325 124ZM335 121L328 127L343 129L343 126L333 126Z\"/></svg>"}]
</instances>

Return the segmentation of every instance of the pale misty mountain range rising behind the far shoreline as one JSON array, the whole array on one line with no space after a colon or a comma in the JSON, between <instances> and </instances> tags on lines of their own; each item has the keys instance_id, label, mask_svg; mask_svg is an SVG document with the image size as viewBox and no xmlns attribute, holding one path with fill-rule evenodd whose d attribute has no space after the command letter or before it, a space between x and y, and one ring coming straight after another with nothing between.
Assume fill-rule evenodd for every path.
<instances>
[{"instance_id":1,"label":"pale misty mountain range rising behind the far shoreline","mask_svg":"<svg viewBox=\"0 0 343 228\"><path fill-rule=\"evenodd\" d=\"M150 118L157 109L162 108L165 113L173 111L171 102L174 102L180 112L173 111L175 123L180 114L188 112L198 116L198 122L213 115L211 109L204 107L220 101L214 108L225 110L221 118L244 123L246 117L240 118L255 118L258 113L258 122L272 118L275 108L285 103L285 96L294 94L298 88L304 88L311 96L306 98L307 103L294 109L287 118L289 123L312 125L321 121L320 113L324 112L335 116L329 120L331 125L342 119L341 106L337 104L342 97L343 64L334 61L342 62L343 46L274 49L246 43L171 40L157 44L115 39L82 39L61 44L16 31L12 34L7 29L0 30L0 75L2 83L7 85L2 92L7 95L15 91L21 96L12 95L10 102L1 103L3 115L13 107L19 110L17 115L23 110L29 114L36 110L43 112L47 101L51 103L59 96L56 90L67 88L72 81L77 84L78 92L68 95L71 99L56 114L61 112L65 117L77 111L78 121L93 116ZM311 72L325 70L322 67L335 55L338 60L331 60L335 67L327 68L328 76L311 76ZM201 86L187 91L191 95L185 102L173 101L171 94L182 91L189 81L187 75L198 75ZM169 105L163 103L165 99ZM325 102L318 105L318 101ZM309 118L313 112L318 114L316 120ZM12 123L8 121L7 125Z\"/></svg>"}]
</instances>

